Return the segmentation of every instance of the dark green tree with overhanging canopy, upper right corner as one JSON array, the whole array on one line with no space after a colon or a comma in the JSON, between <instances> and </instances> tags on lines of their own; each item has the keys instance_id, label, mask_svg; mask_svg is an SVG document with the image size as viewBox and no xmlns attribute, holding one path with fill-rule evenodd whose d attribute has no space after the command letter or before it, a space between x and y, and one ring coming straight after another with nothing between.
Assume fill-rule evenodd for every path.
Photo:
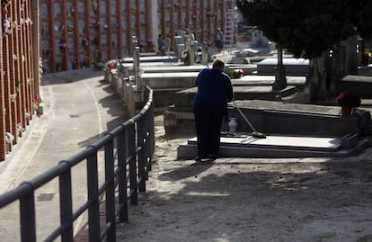
<instances>
[{"instance_id":1,"label":"dark green tree with overhanging canopy, upper right corner","mask_svg":"<svg viewBox=\"0 0 372 242\"><path fill-rule=\"evenodd\" d=\"M311 69L315 68L310 73L311 84L315 85L315 88L310 92L319 94L321 92L318 89L321 85L316 75L316 58L350 36L371 35L371 2L370 0L238 0L237 7L243 13L246 22L256 25L265 36L277 43L279 66L282 64L280 59L282 49L288 49L296 58L310 59ZM284 67L282 76L285 76ZM277 78L282 76L277 74ZM316 95L313 95L310 101L314 101L314 98Z\"/></svg>"}]
</instances>

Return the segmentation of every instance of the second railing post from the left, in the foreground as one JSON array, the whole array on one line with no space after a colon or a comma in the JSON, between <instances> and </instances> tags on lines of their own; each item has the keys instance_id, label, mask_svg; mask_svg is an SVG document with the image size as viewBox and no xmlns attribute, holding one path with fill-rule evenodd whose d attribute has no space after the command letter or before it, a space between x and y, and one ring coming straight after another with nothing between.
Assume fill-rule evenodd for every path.
<instances>
[{"instance_id":1,"label":"second railing post from the left, in the foreground","mask_svg":"<svg viewBox=\"0 0 372 242\"><path fill-rule=\"evenodd\" d=\"M73 229L73 206L72 206L72 183L71 183L71 168L70 164L63 160L59 164L68 166L68 170L59 175L59 211L61 225L69 224L68 229L62 232L62 242L73 242L74 241L74 229Z\"/></svg>"}]
</instances>

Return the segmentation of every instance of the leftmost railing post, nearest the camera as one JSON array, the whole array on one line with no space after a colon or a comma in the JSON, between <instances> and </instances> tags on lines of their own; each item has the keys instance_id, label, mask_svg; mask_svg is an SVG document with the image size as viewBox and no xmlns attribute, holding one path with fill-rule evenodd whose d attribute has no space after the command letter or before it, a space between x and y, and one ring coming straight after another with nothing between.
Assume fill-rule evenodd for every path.
<instances>
[{"instance_id":1,"label":"leftmost railing post, nearest the camera","mask_svg":"<svg viewBox=\"0 0 372 242\"><path fill-rule=\"evenodd\" d=\"M22 185L30 186L31 193L20 198L21 240L22 242L36 242L34 189L30 183Z\"/></svg>"}]
</instances>

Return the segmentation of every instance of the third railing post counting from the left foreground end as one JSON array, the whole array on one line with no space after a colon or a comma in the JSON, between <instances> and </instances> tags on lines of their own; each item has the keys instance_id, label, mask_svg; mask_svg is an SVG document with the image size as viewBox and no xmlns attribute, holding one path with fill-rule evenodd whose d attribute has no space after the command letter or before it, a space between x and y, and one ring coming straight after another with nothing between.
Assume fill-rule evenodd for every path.
<instances>
[{"instance_id":1,"label":"third railing post counting from the left foreground end","mask_svg":"<svg viewBox=\"0 0 372 242\"><path fill-rule=\"evenodd\" d=\"M90 241L100 241L100 202L98 191L98 168L97 168L97 148L93 157L87 158L87 174L88 174L88 201L92 204L88 208L88 225Z\"/></svg>"}]
</instances>

